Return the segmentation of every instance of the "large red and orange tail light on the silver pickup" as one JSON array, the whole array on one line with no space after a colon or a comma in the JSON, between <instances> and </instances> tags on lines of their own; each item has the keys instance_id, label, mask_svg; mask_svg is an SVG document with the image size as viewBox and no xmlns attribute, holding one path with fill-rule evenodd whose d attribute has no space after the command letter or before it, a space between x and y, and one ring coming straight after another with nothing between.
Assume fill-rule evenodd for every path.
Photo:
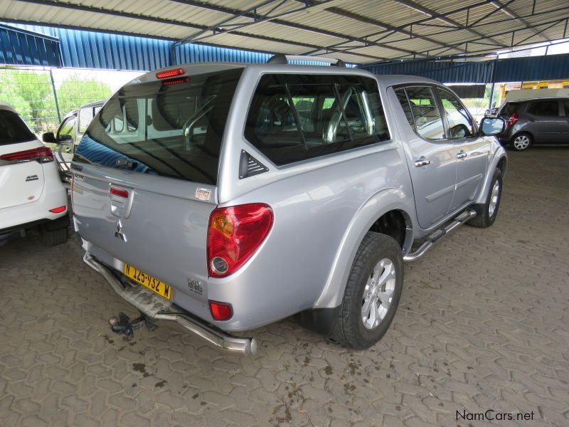
<instances>
[{"instance_id":1,"label":"large red and orange tail light on the silver pickup","mask_svg":"<svg viewBox=\"0 0 569 427\"><path fill-rule=\"evenodd\" d=\"M208 226L209 274L220 278L238 270L265 240L272 222L272 209L266 204L213 211Z\"/></svg>"}]
</instances>

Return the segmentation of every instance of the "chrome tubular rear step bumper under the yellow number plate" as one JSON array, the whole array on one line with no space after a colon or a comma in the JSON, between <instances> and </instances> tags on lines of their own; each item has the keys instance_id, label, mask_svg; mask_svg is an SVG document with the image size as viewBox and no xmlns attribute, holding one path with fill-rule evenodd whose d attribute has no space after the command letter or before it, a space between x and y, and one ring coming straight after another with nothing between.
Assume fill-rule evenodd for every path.
<instances>
[{"instance_id":1,"label":"chrome tubular rear step bumper under the yellow number plate","mask_svg":"<svg viewBox=\"0 0 569 427\"><path fill-rule=\"evenodd\" d=\"M110 268L107 268L106 265L100 263L90 253L85 253L83 260L93 270L100 273L123 300L129 302L129 304L139 310L139 312L142 312L143 315L149 317L149 319L153 321L169 320L177 322L179 325L186 328L186 330L193 332L210 344L230 352L237 352L245 356L248 354L255 354L255 352L257 352L257 341L255 338L233 337L233 335L217 330L216 328L206 324L206 322L196 320L184 313L164 311L162 308L167 308L169 305L162 302L160 297L151 295L149 292L144 290L142 286L136 288L125 288L120 280L118 280L111 272Z\"/></svg>"}]
</instances>

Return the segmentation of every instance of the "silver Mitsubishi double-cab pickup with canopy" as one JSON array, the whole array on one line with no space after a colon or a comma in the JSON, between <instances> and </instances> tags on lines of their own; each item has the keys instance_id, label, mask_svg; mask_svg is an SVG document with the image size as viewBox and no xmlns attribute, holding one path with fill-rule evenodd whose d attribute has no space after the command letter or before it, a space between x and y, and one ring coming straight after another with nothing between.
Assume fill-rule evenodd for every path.
<instances>
[{"instance_id":1,"label":"silver Mitsubishi double-cab pickup with canopy","mask_svg":"<svg viewBox=\"0 0 569 427\"><path fill-rule=\"evenodd\" d=\"M329 60L330 63L336 62ZM403 261L498 212L504 120L433 80L357 68L201 63L124 85L73 158L85 262L155 321L244 354L294 315L347 347L388 329Z\"/></svg>"}]
</instances>

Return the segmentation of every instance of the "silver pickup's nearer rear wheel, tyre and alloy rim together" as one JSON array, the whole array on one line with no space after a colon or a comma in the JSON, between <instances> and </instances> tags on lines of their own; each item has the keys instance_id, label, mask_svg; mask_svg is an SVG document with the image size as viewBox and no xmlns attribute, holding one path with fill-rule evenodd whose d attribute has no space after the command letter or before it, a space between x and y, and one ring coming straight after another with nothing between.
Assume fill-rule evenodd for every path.
<instances>
[{"instance_id":1,"label":"silver pickup's nearer rear wheel, tyre and alloy rim together","mask_svg":"<svg viewBox=\"0 0 569 427\"><path fill-rule=\"evenodd\" d=\"M387 332L403 290L403 255L395 239L369 231L353 260L333 337L367 349Z\"/></svg>"}]
</instances>

